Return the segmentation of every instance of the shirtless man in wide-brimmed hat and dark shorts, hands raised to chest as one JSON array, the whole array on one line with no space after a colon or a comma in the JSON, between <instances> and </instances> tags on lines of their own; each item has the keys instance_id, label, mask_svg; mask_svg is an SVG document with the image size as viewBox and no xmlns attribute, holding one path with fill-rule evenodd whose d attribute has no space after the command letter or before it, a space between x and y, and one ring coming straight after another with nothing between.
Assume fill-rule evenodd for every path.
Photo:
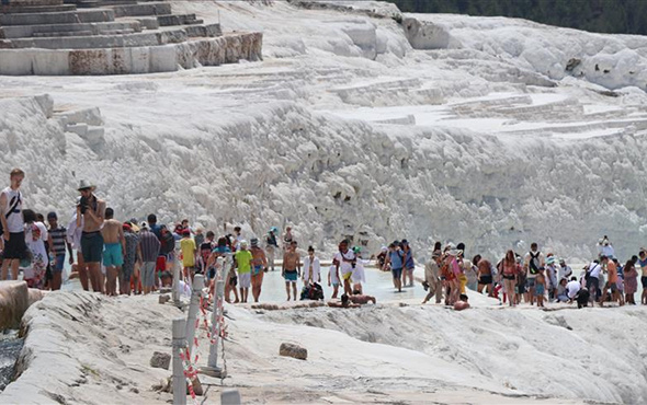
<instances>
[{"instance_id":1,"label":"shirtless man in wide-brimmed hat and dark shorts, hands raised to chest","mask_svg":"<svg viewBox=\"0 0 647 405\"><path fill-rule=\"evenodd\" d=\"M97 198L97 186L82 180L77 188L81 199L77 205L77 227L83 229L81 234L81 251L83 263L88 267L90 285L94 292L103 290L101 262L103 258L103 236L101 228L105 219L105 201Z\"/></svg>"}]
</instances>

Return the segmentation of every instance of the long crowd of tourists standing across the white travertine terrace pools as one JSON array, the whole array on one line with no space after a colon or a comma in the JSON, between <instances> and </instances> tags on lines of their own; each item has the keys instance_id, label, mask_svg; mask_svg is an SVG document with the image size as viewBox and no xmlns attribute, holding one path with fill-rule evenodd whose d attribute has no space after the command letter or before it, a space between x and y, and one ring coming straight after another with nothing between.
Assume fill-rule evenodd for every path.
<instances>
[{"instance_id":1,"label":"long crowd of tourists standing across the white travertine terrace pools","mask_svg":"<svg viewBox=\"0 0 647 405\"><path fill-rule=\"evenodd\" d=\"M10 186L0 193L3 280L8 276L18 279L22 269L30 287L57 290L67 262L72 269L70 277L78 277L84 290L109 296L147 294L172 285L172 264L177 261L181 264L179 288L190 290L194 276L202 274L213 289L218 257L224 257L225 299L235 303L259 302L264 274L275 271L276 262L282 258L280 269L288 301L324 299L324 284L332 289L332 299L338 299L341 290L342 306L375 301L364 294L364 267L370 261L363 257L360 246L351 246L348 240L339 243L328 274L322 277L321 259L315 248L308 246L302 257L290 227L282 235L276 227L269 229L261 246L258 238L248 242L240 227L216 238L213 231L192 228L186 219L172 225L158 224L155 213L145 221L118 221L114 210L94 195L95 186L86 181L78 187L80 196L70 210L71 221L64 227L57 212L45 217L23 209L20 187L24 176L20 169L13 170ZM434 299L435 303L444 301L446 305L465 309L467 290L473 290L511 306L521 302L537 306L545 302L577 302L579 306L590 302L604 305L608 301L635 304L639 267L642 304L647 304L647 250L642 248L621 265L606 236L599 241L598 258L586 266L580 277L563 258L540 252L536 243L523 256L510 250L500 261L490 262L480 255L467 259L464 253L463 243L444 247L435 243L424 264L422 287L427 296L422 303ZM378 268L391 273L397 291L415 286L416 261L407 240L383 246L371 258L376 259Z\"/></svg>"}]
</instances>

